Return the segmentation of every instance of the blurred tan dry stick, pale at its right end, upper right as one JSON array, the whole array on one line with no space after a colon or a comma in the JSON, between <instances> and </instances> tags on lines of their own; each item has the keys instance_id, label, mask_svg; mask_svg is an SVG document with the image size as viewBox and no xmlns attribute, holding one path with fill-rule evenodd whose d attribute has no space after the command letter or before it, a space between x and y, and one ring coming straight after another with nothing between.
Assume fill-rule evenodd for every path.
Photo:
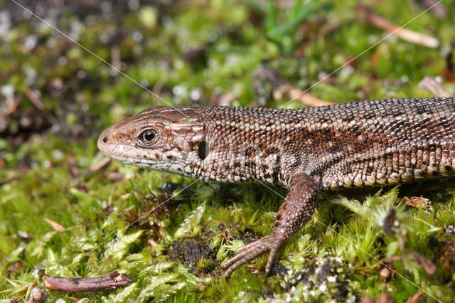
<instances>
[{"instance_id":1,"label":"blurred tan dry stick, pale at its right end, upper right","mask_svg":"<svg viewBox=\"0 0 455 303\"><path fill-rule=\"evenodd\" d=\"M407 28L400 28L400 26L397 26L390 21L385 20L385 18L374 14L373 11L367 6L359 5L357 9L360 16L366 18L370 24L383 29L384 31L388 31L403 40L416 43L421 46L427 46L428 48L437 48L439 46L437 38L423 35L422 33L417 33L417 31L411 31Z\"/></svg>"}]
</instances>

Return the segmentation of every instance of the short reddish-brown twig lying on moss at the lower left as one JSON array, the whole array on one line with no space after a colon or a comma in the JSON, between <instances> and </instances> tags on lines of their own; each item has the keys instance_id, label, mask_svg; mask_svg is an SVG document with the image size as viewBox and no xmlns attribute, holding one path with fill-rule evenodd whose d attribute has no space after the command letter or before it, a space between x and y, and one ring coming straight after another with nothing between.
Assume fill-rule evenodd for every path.
<instances>
[{"instance_id":1,"label":"short reddish-brown twig lying on moss at the lower left","mask_svg":"<svg viewBox=\"0 0 455 303\"><path fill-rule=\"evenodd\" d=\"M87 278L53 277L43 273L45 287L59 292L100 292L117 289L132 282L132 277L114 271L109 275Z\"/></svg>"}]
</instances>

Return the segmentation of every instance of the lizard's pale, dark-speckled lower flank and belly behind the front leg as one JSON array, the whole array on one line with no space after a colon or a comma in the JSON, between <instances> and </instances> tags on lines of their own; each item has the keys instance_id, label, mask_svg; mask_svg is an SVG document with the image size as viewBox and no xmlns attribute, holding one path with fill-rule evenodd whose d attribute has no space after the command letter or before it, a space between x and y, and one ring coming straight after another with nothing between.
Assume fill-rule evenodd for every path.
<instances>
[{"instance_id":1,"label":"lizard's pale, dark-speckled lower flank and belly behind the front leg","mask_svg":"<svg viewBox=\"0 0 455 303\"><path fill-rule=\"evenodd\" d=\"M426 179L455 177L454 144L425 144L400 148L381 156L362 154L341 159L323 171L325 189L409 184Z\"/></svg>"}]
</instances>

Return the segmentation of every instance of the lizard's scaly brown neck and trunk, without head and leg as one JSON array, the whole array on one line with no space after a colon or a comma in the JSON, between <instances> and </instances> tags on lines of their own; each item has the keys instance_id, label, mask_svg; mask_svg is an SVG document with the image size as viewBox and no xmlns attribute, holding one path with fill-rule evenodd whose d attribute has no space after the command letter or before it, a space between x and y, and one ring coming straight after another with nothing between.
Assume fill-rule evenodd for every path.
<instances>
[{"instance_id":1,"label":"lizard's scaly brown neck and trunk, without head and leg","mask_svg":"<svg viewBox=\"0 0 455 303\"><path fill-rule=\"evenodd\" d=\"M210 149L198 174L287 185L302 171L331 189L453 176L454 113L453 97L299 110L205 107Z\"/></svg>"}]
</instances>

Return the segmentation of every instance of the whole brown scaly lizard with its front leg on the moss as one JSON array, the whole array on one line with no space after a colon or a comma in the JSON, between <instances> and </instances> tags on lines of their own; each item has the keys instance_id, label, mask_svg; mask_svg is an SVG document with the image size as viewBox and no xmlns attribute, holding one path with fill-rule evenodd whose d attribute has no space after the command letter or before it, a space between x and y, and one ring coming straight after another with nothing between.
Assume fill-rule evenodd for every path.
<instances>
[{"instance_id":1,"label":"whole brown scaly lizard with its front leg on the moss","mask_svg":"<svg viewBox=\"0 0 455 303\"><path fill-rule=\"evenodd\" d=\"M225 276L311 218L319 190L455 175L454 98L385 99L275 110L152 107L100 135L107 156L194 179L289 189L272 232L225 262Z\"/></svg>"}]
</instances>

